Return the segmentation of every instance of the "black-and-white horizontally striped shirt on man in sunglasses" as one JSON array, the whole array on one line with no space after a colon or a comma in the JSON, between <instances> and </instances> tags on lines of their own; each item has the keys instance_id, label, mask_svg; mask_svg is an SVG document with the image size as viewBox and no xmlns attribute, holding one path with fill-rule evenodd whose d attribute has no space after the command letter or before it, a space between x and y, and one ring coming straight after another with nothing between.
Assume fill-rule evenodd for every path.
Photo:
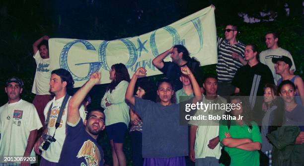
<instances>
[{"instance_id":1,"label":"black-and-white horizontally striped shirt on man in sunglasses","mask_svg":"<svg viewBox=\"0 0 304 166\"><path fill-rule=\"evenodd\" d=\"M231 54L238 53L244 57L245 45L238 41L231 45L228 40L218 37L218 64L217 74L219 82L232 82L232 79L238 68L243 65L237 59L233 59Z\"/></svg>"}]
</instances>

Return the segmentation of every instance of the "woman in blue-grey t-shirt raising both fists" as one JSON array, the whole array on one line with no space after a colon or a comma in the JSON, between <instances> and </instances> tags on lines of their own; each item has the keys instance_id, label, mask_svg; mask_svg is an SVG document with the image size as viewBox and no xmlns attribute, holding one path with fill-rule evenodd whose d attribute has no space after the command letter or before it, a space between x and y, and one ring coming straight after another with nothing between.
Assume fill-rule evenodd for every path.
<instances>
[{"instance_id":1,"label":"woman in blue-grey t-shirt raising both fists","mask_svg":"<svg viewBox=\"0 0 304 166\"><path fill-rule=\"evenodd\" d=\"M195 101L201 99L200 86L187 66L181 72L188 75ZM126 100L134 106L142 118L144 166L185 166L184 156L188 155L188 126L179 124L179 105L175 104L172 83L162 79L157 83L157 102L133 95L135 83L146 70L139 68L133 75L126 92ZM196 102L195 102L196 103Z\"/></svg>"}]
</instances>

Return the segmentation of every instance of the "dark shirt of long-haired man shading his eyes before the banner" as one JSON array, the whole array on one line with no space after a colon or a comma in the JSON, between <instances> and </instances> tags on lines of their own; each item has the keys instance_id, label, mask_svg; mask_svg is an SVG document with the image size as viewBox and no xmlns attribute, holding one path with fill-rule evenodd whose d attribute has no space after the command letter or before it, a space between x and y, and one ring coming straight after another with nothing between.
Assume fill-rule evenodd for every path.
<instances>
[{"instance_id":1,"label":"dark shirt of long-haired man shading his eyes before the banner","mask_svg":"<svg viewBox=\"0 0 304 166\"><path fill-rule=\"evenodd\" d=\"M188 66L188 68L193 73L196 81L200 86L202 86L203 74L201 72L199 64L197 62L187 62L185 65ZM159 71L165 74L166 77L173 83L175 91L183 87L183 84L179 80L179 77L181 76L180 68L181 67L173 62L163 62L163 68L159 69Z\"/></svg>"}]
</instances>

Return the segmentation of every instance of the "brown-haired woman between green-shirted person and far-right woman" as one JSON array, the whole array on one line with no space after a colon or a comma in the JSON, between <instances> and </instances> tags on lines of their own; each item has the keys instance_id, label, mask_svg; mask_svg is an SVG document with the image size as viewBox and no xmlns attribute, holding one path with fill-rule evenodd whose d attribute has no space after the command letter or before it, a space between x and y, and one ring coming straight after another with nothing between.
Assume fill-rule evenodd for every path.
<instances>
[{"instance_id":1,"label":"brown-haired woman between green-shirted person and far-right woman","mask_svg":"<svg viewBox=\"0 0 304 166\"><path fill-rule=\"evenodd\" d=\"M273 120L273 112L278 108L277 100L278 92L275 84L266 84L264 88L264 105L266 113L262 119L262 149L261 151L269 158L269 165L271 166L271 152L272 145L266 137L268 127L271 126ZM282 104L280 104L282 105Z\"/></svg>"}]
</instances>

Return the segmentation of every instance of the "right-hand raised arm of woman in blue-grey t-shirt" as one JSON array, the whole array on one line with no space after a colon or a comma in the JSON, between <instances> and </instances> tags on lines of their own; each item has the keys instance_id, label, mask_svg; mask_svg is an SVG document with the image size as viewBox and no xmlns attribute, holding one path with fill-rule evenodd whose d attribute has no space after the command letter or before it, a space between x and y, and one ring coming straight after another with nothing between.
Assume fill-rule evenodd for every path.
<instances>
[{"instance_id":1,"label":"right-hand raised arm of woman in blue-grey t-shirt","mask_svg":"<svg viewBox=\"0 0 304 166\"><path fill-rule=\"evenodd\" d=\"M202 93L201 93L201 89L200 89L200 85L197 83L193 73L191 72L191 70L187 67L187 66L183 66L180 68L180 71L182 74L187 75L191 81L192 84L192 88L193 88L193 94L195 96L195 99L197 101L202 99Z\"/></svg>"}]
</instances>

